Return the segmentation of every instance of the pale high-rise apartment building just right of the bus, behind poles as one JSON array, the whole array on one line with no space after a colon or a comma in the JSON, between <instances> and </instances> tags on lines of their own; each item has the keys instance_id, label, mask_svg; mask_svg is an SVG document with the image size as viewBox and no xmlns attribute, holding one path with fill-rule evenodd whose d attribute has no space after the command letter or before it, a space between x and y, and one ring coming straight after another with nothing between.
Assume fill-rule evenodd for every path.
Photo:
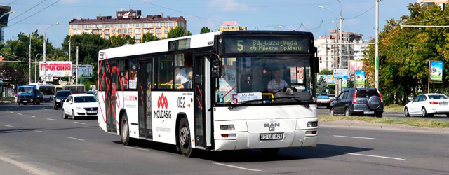
<instances>
[{"instance_id":1,"label":"pale high-rise apartment building just right of the bus, behind poles","mask_svg":"<svg viewBox=\"0 0 449 175\"><path fill-rule=\"evenodd\" d=\"M315 46L318 48L318 57L320 71L323 69L337 69L339 56L339 41L335 30L329 31L330 36L319 37L315 40ZM342 69L347 69L349 60L363 59L363 52L368 49L368 43L364 43L363 34L343 31L342 45Z\"/></svg>"}]
</instances>

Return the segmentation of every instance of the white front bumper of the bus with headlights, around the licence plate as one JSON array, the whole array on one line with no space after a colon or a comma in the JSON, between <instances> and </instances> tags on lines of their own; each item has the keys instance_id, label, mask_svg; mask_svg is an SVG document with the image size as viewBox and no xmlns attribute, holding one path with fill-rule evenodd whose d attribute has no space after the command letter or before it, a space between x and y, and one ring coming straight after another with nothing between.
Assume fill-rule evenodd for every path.
<instances>
[{"instance_id":1,"label":"white front bumper of the bus with headlights, around the licence plate","mask_svg":"<svg viewBox=\"0 0 449 175\"><path fill-rule=\"evenodd\" d=\"M215 133L215 151L257 148L316 147L317 128L283 132L283 139L261 140L260 133L233 132ZM312 134L312 133L315 134Z\"/></svg>"}]
</instances>

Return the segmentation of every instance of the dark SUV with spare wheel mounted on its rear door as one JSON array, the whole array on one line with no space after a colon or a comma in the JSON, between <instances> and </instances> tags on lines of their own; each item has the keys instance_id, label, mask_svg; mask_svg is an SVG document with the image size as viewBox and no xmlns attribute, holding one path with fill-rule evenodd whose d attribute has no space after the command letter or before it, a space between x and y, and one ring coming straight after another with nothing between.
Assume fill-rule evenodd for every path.
<instances>
[{"instance_id":1,"label":"dark SUV with spare wheel mounted on its rear door","mask_svg":"<svg viewBox=\"0 0 449 175\"><path fill-rule=\"evenodd\" d=\"M384 102L375 88L347 88L330 104L330 115L373 115L382 117Z\"/></svg>"}]
</instances>

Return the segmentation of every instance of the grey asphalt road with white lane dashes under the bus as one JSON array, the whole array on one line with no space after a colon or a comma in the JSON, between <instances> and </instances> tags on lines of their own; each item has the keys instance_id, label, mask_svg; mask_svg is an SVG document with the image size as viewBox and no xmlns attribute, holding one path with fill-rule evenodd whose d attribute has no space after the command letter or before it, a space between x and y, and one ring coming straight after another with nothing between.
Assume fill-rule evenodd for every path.
<instances>
[{"instance_id":1,"label":"grey asphalt road with white lane dashes under the bus","mask_svg":"<svg viewBox=\"0 0 449 175\"><path fill-rule=\"evenodd\" d=\"M448 134L321 126L316 148L222 151L184 158L175 146L124 147L96 119L50 104L0 105L0 174L449 174Z\"/></svg>"}]
</instances>

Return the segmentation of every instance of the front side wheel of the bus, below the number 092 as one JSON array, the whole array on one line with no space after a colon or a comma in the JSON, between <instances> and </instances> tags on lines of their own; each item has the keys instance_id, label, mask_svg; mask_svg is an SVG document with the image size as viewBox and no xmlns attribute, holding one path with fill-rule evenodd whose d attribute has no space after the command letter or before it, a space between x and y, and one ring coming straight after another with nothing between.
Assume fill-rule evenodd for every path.
<instances>
[{"instance_id":1,"label":"front side wheel of the bus, below the number 092","mask_svg":"<svg viewBox=\"0 0 449 175\"><path fill-rule=\"evenodd\" d=\"M189 123L187 122L187 118L182 117L177 127L177 143L182 155L187 158L193 158L195 155L190 138Z\"/></svg>"}]
</instances>

